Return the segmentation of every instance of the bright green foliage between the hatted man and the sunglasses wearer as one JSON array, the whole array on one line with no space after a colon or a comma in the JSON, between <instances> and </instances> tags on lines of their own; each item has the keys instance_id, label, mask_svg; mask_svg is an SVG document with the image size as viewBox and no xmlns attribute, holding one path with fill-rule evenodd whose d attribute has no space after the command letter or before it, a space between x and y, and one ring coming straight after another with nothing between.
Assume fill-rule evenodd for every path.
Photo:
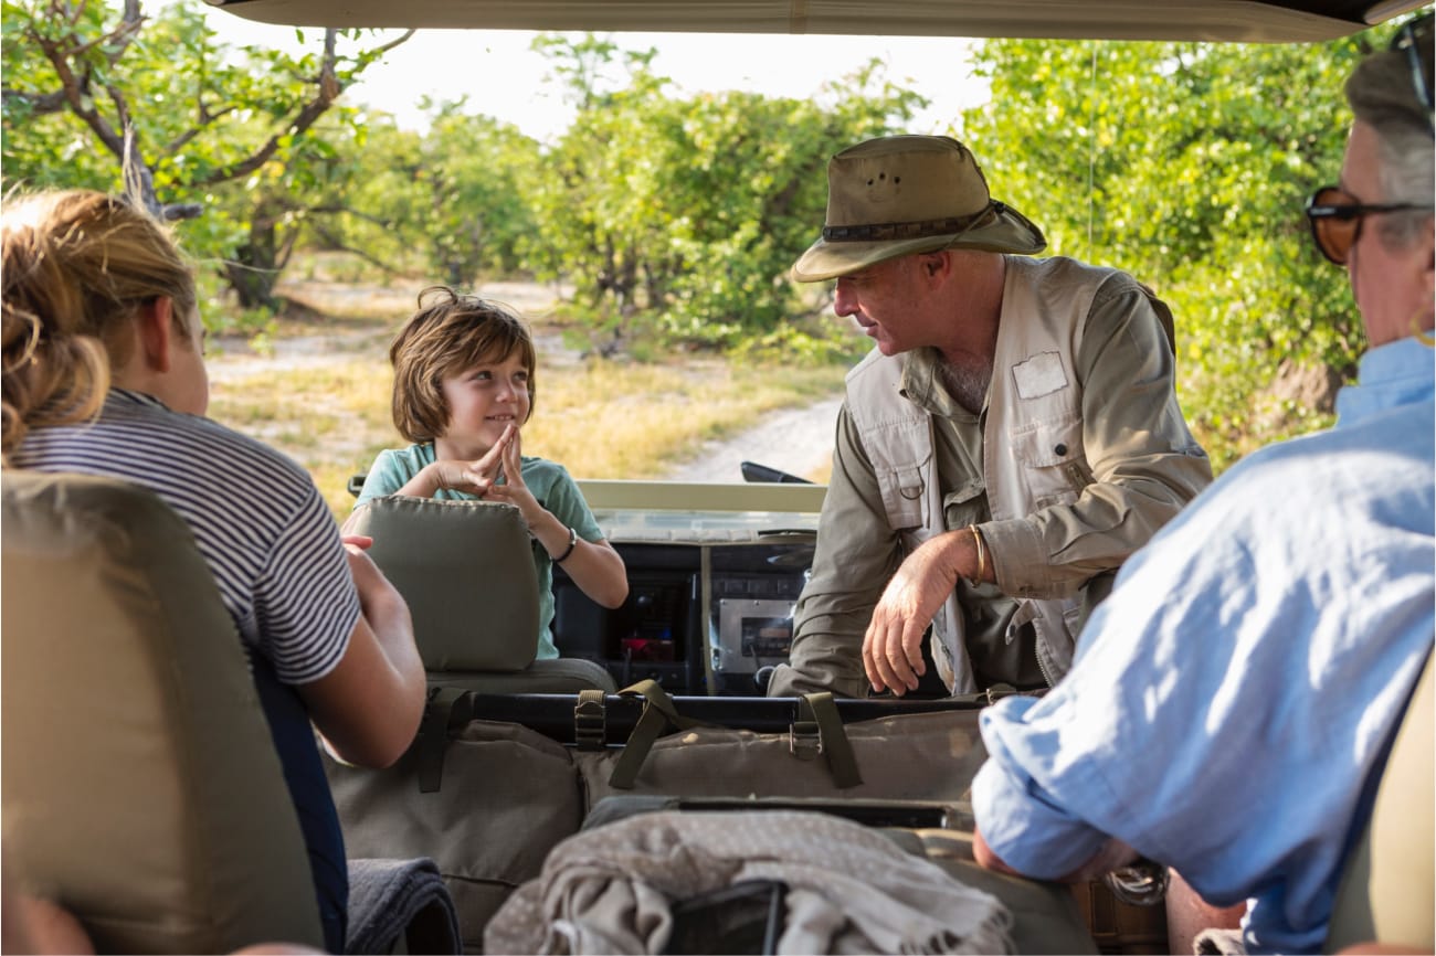
<instances>
[{"instance_id":1,"label":"bright green foliage between the hatted man and the sunglasses wearer","mask_svg":"<svg viewBox=\"0 0 1436 956\"><path fill-rule=\"evenodd\" d=\"M1050 253L1129 270L1172 306L1183 405L1219 467L1325 421L1258 415L1282 359L1348 375L1364 345L1302 201L1337 178L1341 83L1369 42L991 40L976 55L992 99L962 135L994 194Z\"/></svg>"}]
</instances>

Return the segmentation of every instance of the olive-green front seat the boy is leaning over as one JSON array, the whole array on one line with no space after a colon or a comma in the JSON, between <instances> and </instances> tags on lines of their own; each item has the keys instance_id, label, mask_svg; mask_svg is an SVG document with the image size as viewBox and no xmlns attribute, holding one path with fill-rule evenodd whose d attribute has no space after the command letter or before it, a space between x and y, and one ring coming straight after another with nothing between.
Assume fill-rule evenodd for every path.
<instances>
[{"instance_id":1,"label":"olive-green front seat the boy is leaning over","mask_svg":"<svg viewBox=\"0 0 1436 956\"><path fill-rule=\"evenodd\" d=\"M534 660L538 578L523 515L497 501L385 495L355 512L375 564L404 594L431 685L576 693L617 685L593 660Z\"/></svg>"}]
</instances>

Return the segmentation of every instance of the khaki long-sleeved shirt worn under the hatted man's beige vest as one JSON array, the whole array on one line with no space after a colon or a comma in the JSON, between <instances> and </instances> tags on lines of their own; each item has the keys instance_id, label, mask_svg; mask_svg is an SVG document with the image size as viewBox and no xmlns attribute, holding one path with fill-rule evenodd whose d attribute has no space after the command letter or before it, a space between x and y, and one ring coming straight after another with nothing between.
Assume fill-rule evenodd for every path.
<instances>
[{"instance_id":1,"label":"khaki long-sleeved shirt worn under the hatted man's beige vest","mask_svg":"<svg viewBox=\"0 0 1436 956\"><path fill-rule=\"evenodd\" d=\"M1050 683L1037 662L1031 626L1010 633L1017 601L1008 594L1077 590L1090 611L1123 560L1212 481L1208 458L1180 415L1172 413L1176 365L1167 333L1142 287L1122 278L1103 284L1093 299L1074 362L1093 482L1073 504L992 522L982 472L987 405L975 415L948 393L935 349L902 356L902 396L932 415L946 530L976 524L997 574L997 584L959 580L956 586L978 686ZM972 488L982 491L972 495ZM863 634L903 557L844 402L790 665L777 669L770 695L872 690L860 656Z\"/></svg>"}]
</instances>

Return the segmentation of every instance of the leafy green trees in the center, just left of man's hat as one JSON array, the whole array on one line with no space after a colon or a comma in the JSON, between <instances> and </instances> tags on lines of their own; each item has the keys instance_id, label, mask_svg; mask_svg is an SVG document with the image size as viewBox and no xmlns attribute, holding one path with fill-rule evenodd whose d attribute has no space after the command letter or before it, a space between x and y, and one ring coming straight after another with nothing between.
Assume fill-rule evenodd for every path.
<instances>
[{"instance_id":1,"label":"leafy green trees in the center, just left of man's hat","mask_svg":"<svg viewBox=\"0 0 1436 956\"><path fill-rule=\"evenodd\" d=\"M617 50L544 39L580 103L546 158L528 260L574 283L600 349L649 329L724 347L790 322L785 280L827 201L827 158L922 105L879 67L816 100L751 93L668 95L652 50L626 53L628 86L596 88Z\"/></svg>"}]
</instances>

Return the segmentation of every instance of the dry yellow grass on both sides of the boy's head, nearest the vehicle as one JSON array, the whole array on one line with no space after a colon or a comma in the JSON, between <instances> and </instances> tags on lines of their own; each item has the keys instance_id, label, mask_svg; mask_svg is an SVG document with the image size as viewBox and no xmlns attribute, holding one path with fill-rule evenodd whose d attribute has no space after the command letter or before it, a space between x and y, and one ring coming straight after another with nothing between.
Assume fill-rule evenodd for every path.
<instances>
[{"instance_id":1,"label":"dry yellow grass on both sides of the boy's head, nearest the vehicle","mask_svg":"<svg viewBox=\"0 0 1436 956\"><path fill-rule=\"evenodd\" d=\"M353 498L349 477L402 445L389 419L392 372L381 355L313 365L217 369L210 415L286 452L314 477L336 515ZM841 389L844 367L682 365L605 360L540 365L524 452L583 478L659 478L666 468L752 426L765 412Z\"/></svg>"}]
</instances>

